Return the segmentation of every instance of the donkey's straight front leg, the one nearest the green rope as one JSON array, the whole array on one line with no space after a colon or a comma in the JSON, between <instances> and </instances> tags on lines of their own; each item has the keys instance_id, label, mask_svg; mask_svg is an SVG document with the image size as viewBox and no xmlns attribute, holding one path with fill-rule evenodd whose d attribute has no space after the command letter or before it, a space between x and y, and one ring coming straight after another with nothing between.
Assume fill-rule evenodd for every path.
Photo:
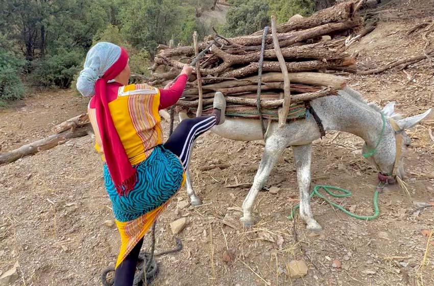
<instances>
[{"instance_id":1,"label":"donkey's straight front leg, the one nearest the green rope","mask_svg":"<svg viewBox=\"0 0 434 286\"><path fill-rule=\"evenodd\" d=\"M297 181L300 189L300 217L307 224L307 229L320 231L322 227L314 219L310 209L310 163L312 159L312 145L293 146L294 159L297 166Z\"/></svg>"}]
</instances>

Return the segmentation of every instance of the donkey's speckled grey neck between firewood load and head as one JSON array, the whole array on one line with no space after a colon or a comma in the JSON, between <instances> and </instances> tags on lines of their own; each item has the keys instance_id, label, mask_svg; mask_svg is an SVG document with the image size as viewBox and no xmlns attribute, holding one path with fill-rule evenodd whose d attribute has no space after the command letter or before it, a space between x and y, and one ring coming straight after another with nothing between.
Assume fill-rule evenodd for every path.
<instances>
[{"instance_id":1,"label":"donkey's speckled grey neck between firewood load and head","mask_svg":"<svg viewBox=\"0 0 434 286\"><path fill-rule=\"evenodd\" d=\"M318 100L320 104L312 106L319 113L325 130L352 133L364 139L368 146L375 146L383 126L380 112L350 96L325 97Z\"/></svg>"}]
</instances>

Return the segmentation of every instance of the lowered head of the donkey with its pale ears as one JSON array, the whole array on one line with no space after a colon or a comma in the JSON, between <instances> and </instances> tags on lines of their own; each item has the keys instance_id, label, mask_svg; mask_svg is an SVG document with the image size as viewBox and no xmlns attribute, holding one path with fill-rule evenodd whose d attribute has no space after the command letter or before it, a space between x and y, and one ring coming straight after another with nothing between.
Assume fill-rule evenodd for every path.
<instances>
[{"instance_id":1,"label":"lowered head of the donkey with its pale ears","mask_svg":"<svg viewBox=\"0 0 434 286\"><path fill-rule=\"evenodd\" d=\"M385 120L384 134L382 138L378 138L376 152L367 157L377 167L380 181L391 183L395 181L396 176L403 179L405 175L402 156L411 144L411 138L405 130L417 125L431 112L431 109L428 109L422 114L401 118L400 114L395 113L394 107L395 102L391 102L382 109ZM366 145L363 149L364 154L370 151Z\"/></svg>"}]
</instances>

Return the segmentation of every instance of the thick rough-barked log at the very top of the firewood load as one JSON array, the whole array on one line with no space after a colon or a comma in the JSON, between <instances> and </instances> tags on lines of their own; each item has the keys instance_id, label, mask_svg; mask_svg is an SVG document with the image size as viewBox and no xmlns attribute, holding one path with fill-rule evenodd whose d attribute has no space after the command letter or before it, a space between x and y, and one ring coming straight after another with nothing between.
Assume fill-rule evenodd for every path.
<instances>
[{"instance_id":1,"label":"thick rough-barked log at the very top of the firewood load","mask_svg":"<svg viewBox=\"0 0 434 286\"><path fill-rule=\"evenodd\" d=\"M306 18L292 19L290 22L277 26L277 33L287 33L294 30L304 30L331 22L343 22L352 17L354 3L345 2L323 9ZM262 30L252 35L261 35Z\"/></svg>"}]
</instances>

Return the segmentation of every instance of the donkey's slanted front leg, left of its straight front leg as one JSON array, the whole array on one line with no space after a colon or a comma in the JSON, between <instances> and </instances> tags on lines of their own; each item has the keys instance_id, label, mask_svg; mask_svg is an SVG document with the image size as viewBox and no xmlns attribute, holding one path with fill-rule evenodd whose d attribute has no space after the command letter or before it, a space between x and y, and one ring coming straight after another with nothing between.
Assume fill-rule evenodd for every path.
<instances>
[{"instance_id":1,"label":"donkey's slanted front leg, left of its straight front leg","mask_svg":"<svg viewBox=\"0 0 434 286\"><path fill-rule=\"evenodd\" d=\"M244 226L248 227L254 225L252 209L255 198L259 191L267 183L271 170L273 169L286 146L287 143L285 142L284 138L281 138L276 134L270 136L267 139L266 146L259 163L258 171L256 172L255 178L253 179L253 185L243 202L243 217L240 219L240 221L243 222Z\"/></svg>"}]
</instances>

